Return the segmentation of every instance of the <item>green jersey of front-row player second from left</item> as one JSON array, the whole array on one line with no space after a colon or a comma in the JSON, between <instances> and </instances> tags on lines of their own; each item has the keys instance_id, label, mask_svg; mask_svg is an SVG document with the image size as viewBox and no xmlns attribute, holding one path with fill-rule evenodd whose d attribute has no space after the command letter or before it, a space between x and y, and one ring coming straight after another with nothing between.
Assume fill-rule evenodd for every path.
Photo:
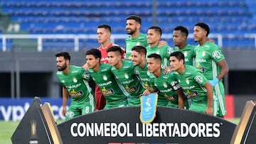
<instances>
[{"instance_id":1,"label":"green jersey of front-row player second from left","mask_svg":"<svg viewBox=\"0 0 256 144\"><path fill-rule=\"evenodd\" d=\"M128 94L125 92L124 87L115 79L109 64L101 63L100 69L97 72L90 68L88 72L106 98L107 104L104 109L127 106Z\"/></svg>"}]
</instances>

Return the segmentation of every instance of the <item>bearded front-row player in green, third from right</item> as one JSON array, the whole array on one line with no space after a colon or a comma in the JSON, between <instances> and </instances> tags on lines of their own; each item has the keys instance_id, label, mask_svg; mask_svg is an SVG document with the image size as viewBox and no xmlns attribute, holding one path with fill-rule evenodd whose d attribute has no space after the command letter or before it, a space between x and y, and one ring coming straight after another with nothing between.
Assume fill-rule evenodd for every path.
<instances>
[{"instance_id":1,"label":"bearded front-row player in green, third from right","mask_svg":"<svg viewBox=\"0 0 256 144\"><path fill-rule=\"evenodd\" d=\"M146 48L143 46L134 46L132 48L132 62L135 66L135 73L139 75L139 79L142 81L144 88L146 89L145 94L157 92L158 89L151 84L149 79L149 72L146 63ZM164 96L158 96L157 106L167 106L168 101Z\"/></svg>"}]
</instances>

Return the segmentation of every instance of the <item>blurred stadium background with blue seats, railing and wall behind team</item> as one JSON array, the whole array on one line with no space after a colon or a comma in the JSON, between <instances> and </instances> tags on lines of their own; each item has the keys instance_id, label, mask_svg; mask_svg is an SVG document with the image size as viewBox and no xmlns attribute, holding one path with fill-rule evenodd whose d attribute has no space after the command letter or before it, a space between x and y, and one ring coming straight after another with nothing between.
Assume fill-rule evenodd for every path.
<instances>
[{"instance_id":1,"label":"blurred stadium background with blue seats, railing and wall behind team","mask_svg":"<svg viewBox=\"0 0 256 144\"><path fill-rule=\"evenodd\" d=\"M55 52L70 52L71 64L82 66L86 50L99 46L96 31L103 23L112 27L112 42L124 47L131 14L142 18L142 33L160 26L162 40L170 46L176 26L186 26L188 43L197 45L193 26L208 23L209 38L222 48L230 67L224 79L227 117L240 117L245 101L254 101L256 94L255 7L253 0L1 1L0 119L22 118L34 96L58 99L53 109L57 115L62 91L55 75Z\"/></svg>"}]
</instances>

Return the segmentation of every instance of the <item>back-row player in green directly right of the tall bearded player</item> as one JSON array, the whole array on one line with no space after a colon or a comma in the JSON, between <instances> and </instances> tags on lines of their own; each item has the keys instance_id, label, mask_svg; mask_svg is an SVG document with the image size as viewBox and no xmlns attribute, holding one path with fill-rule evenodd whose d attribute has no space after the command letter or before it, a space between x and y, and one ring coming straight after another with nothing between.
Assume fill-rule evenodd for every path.
<instances>
[{"instance_id":1,"label":"back-row player in green directly right of the tall bearded player","mask_svg":"<svg viewBox=\"0 0 256 144\"><path fill-rule=\"evenodd\" d=\"M149 45L146 47L146 56L149 56L153 53L161 55L161 65L162 67L166 67L169 65L169 58L171 52L174 52L174 48L171 48L169 45L163 45L158 48L161 34L161 28L158 26L151 26L149 28L146 36L147 43L149 43Z\"/></svg>"}]
</instances>

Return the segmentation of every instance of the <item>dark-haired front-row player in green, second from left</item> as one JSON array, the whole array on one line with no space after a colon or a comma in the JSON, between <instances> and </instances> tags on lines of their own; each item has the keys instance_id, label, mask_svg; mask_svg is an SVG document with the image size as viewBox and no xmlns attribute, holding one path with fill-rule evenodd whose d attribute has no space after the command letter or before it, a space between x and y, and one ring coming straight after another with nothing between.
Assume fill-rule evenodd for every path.
<instances>
[{"instance_id":1,"label":"dark-haired front-row player in green, second from left","mask_svg":"<svg viewBox=\"0 0 256 144\"><path fill-rule=\"evenodd\" d=\"M115 79L109 64L100 63L101 52L91 49L86 52L86 62L89 67L88 72L95 83L100 88L106 99L104 109L112 109L127 106L127 92Z\"/></svg>"}]
</instances>

